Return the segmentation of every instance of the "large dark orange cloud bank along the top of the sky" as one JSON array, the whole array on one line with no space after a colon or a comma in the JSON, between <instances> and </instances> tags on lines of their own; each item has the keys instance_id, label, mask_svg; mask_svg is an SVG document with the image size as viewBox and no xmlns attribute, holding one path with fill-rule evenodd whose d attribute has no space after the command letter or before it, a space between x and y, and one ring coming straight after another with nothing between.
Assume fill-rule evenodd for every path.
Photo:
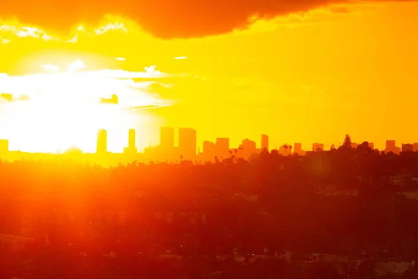
<instances>
[{"instance_id":1,"label":"large dark orange cloud bank along the top of the sky","mask_svg":"<svg viewBox=\"0 0 418 279\"><path fill-rule=\"evenodd\" d=\"M382 0L385 1L385 0ZM208 36L245 28L249 17L271 18L347 0L32 0L5 1L0 17L68 33L75 24L98 24L103 15L136 20L160 38ZM341 8L338 10L341 12Z\"/></svg>"}]
</instances>

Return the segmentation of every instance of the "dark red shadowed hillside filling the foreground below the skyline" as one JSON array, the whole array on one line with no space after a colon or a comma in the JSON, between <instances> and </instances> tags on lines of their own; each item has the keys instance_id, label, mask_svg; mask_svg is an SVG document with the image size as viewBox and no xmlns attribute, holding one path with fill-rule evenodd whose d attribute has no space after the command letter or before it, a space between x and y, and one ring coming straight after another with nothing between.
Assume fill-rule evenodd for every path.
<instances>
[{"instance_id":1,"label":"dark red shadowed hillside filling the foreground below the skyline","mask_svg":"<svg viewBox=\"0 0 418 279\"><path fill-rule=\"evenodd\" d=\"M418 278L417 152L225 156L1 163L0 278Z\"/></svg>"}]
</instances>

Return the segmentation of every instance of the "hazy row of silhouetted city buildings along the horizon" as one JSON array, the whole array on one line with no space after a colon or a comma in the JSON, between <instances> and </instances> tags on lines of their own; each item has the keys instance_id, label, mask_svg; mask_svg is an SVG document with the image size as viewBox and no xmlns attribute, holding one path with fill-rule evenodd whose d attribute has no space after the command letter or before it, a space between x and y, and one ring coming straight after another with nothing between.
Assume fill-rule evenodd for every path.
<instances>
[{"instance_id":1,"label":"hazy row of silhouetted city buildings along the horizon","mask_svg":"<svg viewBox=\"0 0 418 279\"><path fill-rule=\"evenodd\" d=\"M229 137L215 137L214 141L210 140L203 140L203 142L198 141L198 133L193 128L177 128L173 127L160 127L160 141L157 144L151 144L145 147L143 150L137 148L137 130L134 128L130 128L127 130L127 140L126 144L122 146L121 152L114 152L109 150L109 141L108 141L108 132L106 129L99 129L97 131L95 137L95 150L92 151L85 151L72 144L68 146L67 149L58 150L56 152L45 152L45 153L63 153L65 151L70 151L72 149L77 149L82 151L83 153L97 153L97 154L105 154L105 153L124 153L124 154L137 154L137 153L144 153L147 149L153 149L157 147L160 150L160 153L169 153L173 152L173 149L178 149L180 151L180 155L185 158L191 158L192 156L199 155L199 153L216 153L218 156L222 156L222 158L228 158L231 153L230 151L233 149L241 149L241 150L251 150L261 151L266 149L268 151L271 150L278 150L284 154L286 153L305 153L307 151L327 151L334 148L338 148L341 146L339 144L323 144L319 142L313 142L312 144L302 144L301 142L293 142L291 144L283 143L283 144L274 144L274 146L270 145L270 137L265 134L260 134L259 140L248 139L245 138L241 140L240 144L233 146L230 145L231 139ZM371 149L378 149L380 151L389 152L392 151L393 153L400 153L401 151L418 151L418 142L408 142L408 143L399 143L396 140L386 140L385 146L382 149L376 147L374 142L369 141L359 141L353 142L353 148L357 148L359 144L362 142L368 142L369 147ZM8 139L0 139L0 153L4 153L6 151L23 151L24 150L13 150L9 148L10 141ZM285 151L286 149L286 151ZM31 152L30 153L42 153L42 152ZM250 154L246 154L245 157L249 157Z\"/></svg>"}]
</instances>

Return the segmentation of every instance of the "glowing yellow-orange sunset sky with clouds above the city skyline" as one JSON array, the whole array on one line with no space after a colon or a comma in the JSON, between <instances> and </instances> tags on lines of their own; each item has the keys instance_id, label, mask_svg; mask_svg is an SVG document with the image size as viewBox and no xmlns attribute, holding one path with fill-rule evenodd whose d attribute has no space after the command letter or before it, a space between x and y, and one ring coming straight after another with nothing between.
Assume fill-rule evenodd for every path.
<instances>
[{"instance_id":1,"label":"glowing yellow-orange sunset sky with clouds above the city skyline","mask_svg":"<svg viewBox=\"0 0 418 279\"><path fill-rule=\"evenodd\" d=\"M418 142L417 2L160 1L6 3L0 138L10 149L94 151L106 128L120 152L135 128L141 151L160 126L195 128L199 146L259 146L261 134L270 148L305 150L346 134L380 149Z\"/></svg>"}]
</instances>

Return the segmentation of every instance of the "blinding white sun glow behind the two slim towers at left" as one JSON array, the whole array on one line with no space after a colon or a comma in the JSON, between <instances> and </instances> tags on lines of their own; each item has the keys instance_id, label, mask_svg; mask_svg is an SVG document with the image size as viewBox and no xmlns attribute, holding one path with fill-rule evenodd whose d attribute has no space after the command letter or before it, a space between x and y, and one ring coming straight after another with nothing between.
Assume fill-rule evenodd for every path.
<instances>
[{"instance_id":1,"label":"blinding white sun glow behind the two slim towers at left","mask_svg":"<svg viewBox=\"0 0 418 279\"><path fill-rule=\"evenodd\" d=\"M93 152L97 130L105 128L109 150L121 151L127 130L141 130L146 121L146 114L134 107L167 105L142 91L150 82L144 85L133 80L163 75L155 66L144 72L82 71L85 67L77 60L64 72L43 64L42 68L54 73L0 75L1 136L10 140L10 149L56 152L77 146Z\"/></svg>"}]
</instances>

